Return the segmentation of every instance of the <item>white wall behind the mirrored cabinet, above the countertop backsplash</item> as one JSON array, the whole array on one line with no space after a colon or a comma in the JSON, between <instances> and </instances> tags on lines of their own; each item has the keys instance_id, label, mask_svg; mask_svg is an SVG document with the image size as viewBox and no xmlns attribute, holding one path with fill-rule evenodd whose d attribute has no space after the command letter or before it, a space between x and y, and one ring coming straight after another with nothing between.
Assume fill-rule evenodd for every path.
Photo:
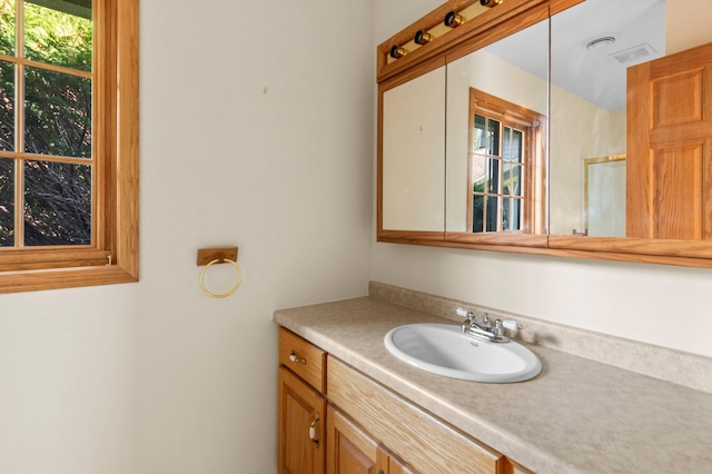
<instances>
[{"instance_id":1,"label":"white wall behind the mirrored cabinet, above the countertop backsplash","mask_svg":"<svg viewBox=\"0 0 712 474\"><path fill-rule=\"evenodd\" d=\"M376 0L375 43L441 3ZM376 244L373 279L712 356L712 270Z\"/></svg>"}]
</instances>

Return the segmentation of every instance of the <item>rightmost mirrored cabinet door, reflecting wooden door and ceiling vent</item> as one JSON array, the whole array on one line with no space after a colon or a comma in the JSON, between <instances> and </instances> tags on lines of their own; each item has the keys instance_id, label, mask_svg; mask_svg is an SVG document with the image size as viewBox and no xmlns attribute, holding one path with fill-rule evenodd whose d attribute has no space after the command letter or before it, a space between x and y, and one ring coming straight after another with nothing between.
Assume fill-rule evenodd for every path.
<instances>
[{"instance_id":1,"label":"rightmost mirrored cabinet door, reflecting wooden door and ceiling vent","mask_svg":"<svg viewBox=\"0 0 712 474\"><path fill-rule=\"evenodd\" d=\"M684 119L689 129L678 124L665 131L663 147L654 144L661 141L656 121L679 122L680 108L702 111L709 102L705 72L696 91L696 79L685 80L690 70L674 72L675 65L699 59L684 50L712 40L702 20L712 3L690 7L682 0L587 0L552 18L551 235L704 238L698 223L708 200L701 194L704 145L698 144L696 170L690 164L698 155L655 151L689 142L702 122ZM663 59L671 53L679 59ZM696 69L704 71L705 61ZM647 69L662 72L636 79ZM643 117L646 110L651 116Z\"/></svg>"}]
</instances>

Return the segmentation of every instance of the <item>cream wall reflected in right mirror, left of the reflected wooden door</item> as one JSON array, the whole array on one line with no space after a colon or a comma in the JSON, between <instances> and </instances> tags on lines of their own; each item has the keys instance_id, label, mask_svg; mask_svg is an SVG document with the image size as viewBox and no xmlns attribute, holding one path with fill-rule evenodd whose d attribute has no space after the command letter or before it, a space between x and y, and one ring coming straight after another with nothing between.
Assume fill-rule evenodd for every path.
<instances>
[{"instance_id":1,"label":"cream wall reflected in right mirror, left of the reflected wooden door","mask_svg":"<svg viewBox=\"0 0 712 474\"><path fill-rule=\"evenodd\" d=\"M609 111L552 85L550 234L584 229L583 161L625 154L625 109Z\"/></svg>"}]
</instances>

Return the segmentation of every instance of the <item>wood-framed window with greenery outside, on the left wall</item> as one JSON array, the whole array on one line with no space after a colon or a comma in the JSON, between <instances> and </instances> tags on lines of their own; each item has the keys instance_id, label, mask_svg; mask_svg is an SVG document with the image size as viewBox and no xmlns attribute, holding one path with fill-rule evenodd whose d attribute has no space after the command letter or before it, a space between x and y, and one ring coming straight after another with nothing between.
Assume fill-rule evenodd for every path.
<instances>
[{"instance_id":1,"label":"wood-framed window with greenery outside, on the left wall","mask_svg":"<svg viewBox=\"0 0 712 474\"><path fill-rule=\"evenodd\" d=\"M0 0L0 293L138 278L138 0Z\"/></svg>"}]
</instances>

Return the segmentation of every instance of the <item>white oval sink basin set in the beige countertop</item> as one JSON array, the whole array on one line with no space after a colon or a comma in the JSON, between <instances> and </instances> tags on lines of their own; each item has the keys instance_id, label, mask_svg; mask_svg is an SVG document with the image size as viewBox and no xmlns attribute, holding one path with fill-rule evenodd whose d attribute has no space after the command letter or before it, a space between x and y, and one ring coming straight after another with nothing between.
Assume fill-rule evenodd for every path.
<instances>
[{"instance_id":1,"label":"white oval sink basin set in the beige countertop","mask_svg":"<svg viewBox=\"0 0 712 474\"><path fill-rule=\"evenodd\" d=\"M510 383L542 372L538 357L513 340L491 343L462 333L452 324L408 324L390 329L388 350L423 371L463 381Z\"/></svg>"}]
</instances>

